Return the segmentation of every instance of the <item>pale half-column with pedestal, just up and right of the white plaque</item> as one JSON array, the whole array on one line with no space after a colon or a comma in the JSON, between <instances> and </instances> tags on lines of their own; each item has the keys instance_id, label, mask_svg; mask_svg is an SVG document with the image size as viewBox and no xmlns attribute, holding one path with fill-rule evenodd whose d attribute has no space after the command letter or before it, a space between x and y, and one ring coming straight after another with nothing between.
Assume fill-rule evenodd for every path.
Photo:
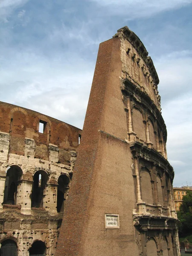
<instances>
[{"instance_id":1,"label":"pale half-column with pedestal, just up and right of the white plaque","mask_svg":"<svg viewBox=\"0 0 192 256\"><path fill-rule=\"evenodd\" d=\"M143 202L141 196L141 180L140 180L140 167L138 157L134 157L134 165L135 165L135 175L136 175L136 184L137 184L137 206L138 212L146 212L146 203Z\"/></svg>"}]
</instances>

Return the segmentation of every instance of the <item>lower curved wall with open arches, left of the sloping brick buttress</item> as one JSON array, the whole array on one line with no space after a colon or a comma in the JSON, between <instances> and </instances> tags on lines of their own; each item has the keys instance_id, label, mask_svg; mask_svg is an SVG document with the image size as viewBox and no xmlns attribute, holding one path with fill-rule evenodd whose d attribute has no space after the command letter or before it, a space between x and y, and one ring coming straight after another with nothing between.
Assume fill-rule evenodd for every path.
<instances>
[{"instance_id":1,"label":"lower curved wall with open arches, left of the sloping brick buttress","mask_svg":"<svg viewBox=\"0 0 192 256\"><path fill-rule=\"evenodd\" d=\"M0 102L2 248L12 240L18 256L28 256L38 242L44 255L55 254L79 134L72 125Z\"/></svg>"}]
</instances>

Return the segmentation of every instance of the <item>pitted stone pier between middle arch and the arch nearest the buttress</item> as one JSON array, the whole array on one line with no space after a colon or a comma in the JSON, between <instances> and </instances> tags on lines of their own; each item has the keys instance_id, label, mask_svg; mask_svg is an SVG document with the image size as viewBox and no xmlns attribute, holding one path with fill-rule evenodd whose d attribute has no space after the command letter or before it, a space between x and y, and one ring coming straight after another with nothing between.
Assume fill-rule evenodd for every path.
<instances>
[{"instance_id":1,"label":"pitted stone pier between middle arch and the arch nearest the buttress","mask_svg":"<svg viewBox=\"0 0 192 256\"><path fill-rule=\"evenodd\" d=\"M49 183L44 189L43 207L50 215L57 214L57 187L58 184Z\"/></svg>"}]
</instances>

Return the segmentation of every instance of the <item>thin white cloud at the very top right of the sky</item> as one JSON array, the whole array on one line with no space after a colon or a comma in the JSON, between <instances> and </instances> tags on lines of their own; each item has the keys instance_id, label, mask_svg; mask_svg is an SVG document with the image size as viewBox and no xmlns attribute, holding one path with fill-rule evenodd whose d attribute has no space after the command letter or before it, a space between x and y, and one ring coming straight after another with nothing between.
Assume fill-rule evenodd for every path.
<instances>
[{"instance_id":1,"label":"thin white cloud at the very top right of the sky","mask_svg":"<svg viewBox=\"0 0 192 256\"><path fill-rule=\"evenodd\" d=\"M192 3L192 0L88 0L107 8L106 15L125 15L127 20L150 17L157 13L178 9Z\"/></svg>"}]
</instances>

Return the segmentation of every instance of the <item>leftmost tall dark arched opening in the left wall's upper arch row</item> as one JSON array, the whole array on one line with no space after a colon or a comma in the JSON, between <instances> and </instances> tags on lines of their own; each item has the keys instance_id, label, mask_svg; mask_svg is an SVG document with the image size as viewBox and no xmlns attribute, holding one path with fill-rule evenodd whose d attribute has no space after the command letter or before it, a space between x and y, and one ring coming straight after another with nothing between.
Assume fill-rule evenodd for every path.
<instances>
[{"instance_id":1,"label":"leftmost tall dark arched opening in the left wall's upper arch row","mask_svg":"<svg viewBox=\"0 0 192 256\"><path fill-rule=\"evenodd\" d=\"M6 174L3 204L17 203L17 185L23 172L19 166L11 166Z\"/></svg>"}]
</instances>

